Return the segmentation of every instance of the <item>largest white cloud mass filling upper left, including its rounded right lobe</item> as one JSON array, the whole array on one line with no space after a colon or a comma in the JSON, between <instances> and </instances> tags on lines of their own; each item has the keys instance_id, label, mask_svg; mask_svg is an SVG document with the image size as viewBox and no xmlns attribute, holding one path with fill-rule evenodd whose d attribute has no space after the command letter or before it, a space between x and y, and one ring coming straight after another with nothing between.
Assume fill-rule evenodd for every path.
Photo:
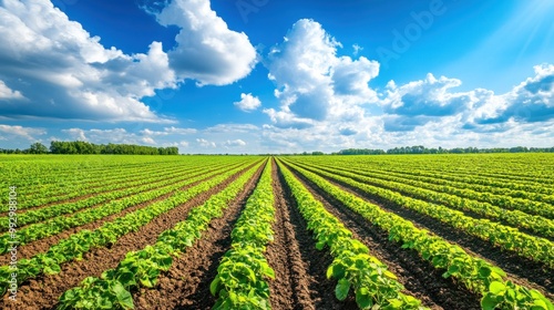
<instances>
[{"instance_id":1,"label":"largest white cloud mass filling upper left, including its rounded right lobe","mask_svg":"<svg viewBox=\"0 0 554 310\"><path fill-rule=\"evenodd\" d=\"M185 79L224 85L246 76L256 50L232 31L209 0L164 1L160 23L175 24L177 45L145 53L106 49L50 0L0 2L0 114L94 121L175 123L141 102ZM7 85L10 85L8 87ZM22 100L23 97L27 100Z\"/></svg>"}]
</instances>

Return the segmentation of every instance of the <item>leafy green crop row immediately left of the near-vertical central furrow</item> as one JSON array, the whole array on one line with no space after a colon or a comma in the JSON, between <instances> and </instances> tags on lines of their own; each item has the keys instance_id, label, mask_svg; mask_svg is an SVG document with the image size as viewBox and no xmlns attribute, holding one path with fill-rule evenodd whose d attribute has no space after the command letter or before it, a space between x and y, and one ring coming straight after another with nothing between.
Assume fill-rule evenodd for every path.
<instances>
[{"instance_id":1,"label":"leafy green crop row immediately left of the near-vertical central furrow","mask_svg":"<svg viewBox=\"0 0 554 310\"><path fill-rule=\"evenodd\" d=\"M246 202L230 237L230 249L222 258L209 290L217 297L213 309L270 309L269 285L275 271L264 257L274 240L271 165L266 165L256 189Z\"/></svg>"}]
</instances>

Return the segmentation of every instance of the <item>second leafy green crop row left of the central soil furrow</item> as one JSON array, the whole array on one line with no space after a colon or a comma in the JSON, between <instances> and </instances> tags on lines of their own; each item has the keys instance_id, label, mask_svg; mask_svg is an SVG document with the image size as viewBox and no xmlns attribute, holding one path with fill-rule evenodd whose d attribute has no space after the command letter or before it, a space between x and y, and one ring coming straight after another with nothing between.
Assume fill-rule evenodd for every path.
<instances>
[{"instance_id":1,"label":"second leafy green crop row left of the central soil furrow","mask_svg":"<svg viewBox=\"0 0 554 310\"><path fill-rule=\"evenodd\" d=\"M60 297L59 309L133 309L132 291L138 287L153 288L162 271L167 271L173 257L178 257L202 237L213 218L223 216L259 165L250 168L224 190L189 211L186 220L160 235L153 246L126 254L115 269L100 278L88 277L76 288Z\"/></svg>"}]
</instances>

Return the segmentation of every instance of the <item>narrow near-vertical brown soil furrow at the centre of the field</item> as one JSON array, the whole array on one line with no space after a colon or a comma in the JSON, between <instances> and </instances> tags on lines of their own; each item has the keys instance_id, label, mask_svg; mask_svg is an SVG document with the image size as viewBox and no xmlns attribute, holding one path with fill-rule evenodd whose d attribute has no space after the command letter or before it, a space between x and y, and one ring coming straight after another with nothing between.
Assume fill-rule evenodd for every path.
<instances>
[{"instance_id":1,"label":"narrow near-vertical brown soil furrow at the centre of the field","mask_svg":"<svg viewBox=\"0 0 554 310\"><path fill-rule=\"evenodd\" d=\"M290 221L290 203L279 179L277 165L273 165L275 196L274 241L267 247L266 258L275 270L275 280L269 281L271 308L315 309L310 298L307 262L302 261L295 227Z\"/></svg>"}]
</instances>

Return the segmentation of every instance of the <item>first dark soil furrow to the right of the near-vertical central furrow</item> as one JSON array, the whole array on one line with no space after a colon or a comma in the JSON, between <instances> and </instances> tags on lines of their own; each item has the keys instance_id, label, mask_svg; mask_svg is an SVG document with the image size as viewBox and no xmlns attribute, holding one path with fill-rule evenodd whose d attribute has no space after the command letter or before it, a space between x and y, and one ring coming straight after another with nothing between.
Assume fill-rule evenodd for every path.
<instances>
[{"instance_id":1,"label":"first dark soil furrow to the right of the near-vertical central furrow","mask_svg":"<svg viewBox=\"0 0 554 310\"><path fill-rule=\"evenodd\" d=\"M390 241L386 231L350 210L294 168L291 170L311 195L369 248L372 256L389 267L408 294L431 309L481 309L479 296L451 279L442 278L442 272L423 261L416 250L402 249L401 244Z\"/></svg>"}]
</instances>

